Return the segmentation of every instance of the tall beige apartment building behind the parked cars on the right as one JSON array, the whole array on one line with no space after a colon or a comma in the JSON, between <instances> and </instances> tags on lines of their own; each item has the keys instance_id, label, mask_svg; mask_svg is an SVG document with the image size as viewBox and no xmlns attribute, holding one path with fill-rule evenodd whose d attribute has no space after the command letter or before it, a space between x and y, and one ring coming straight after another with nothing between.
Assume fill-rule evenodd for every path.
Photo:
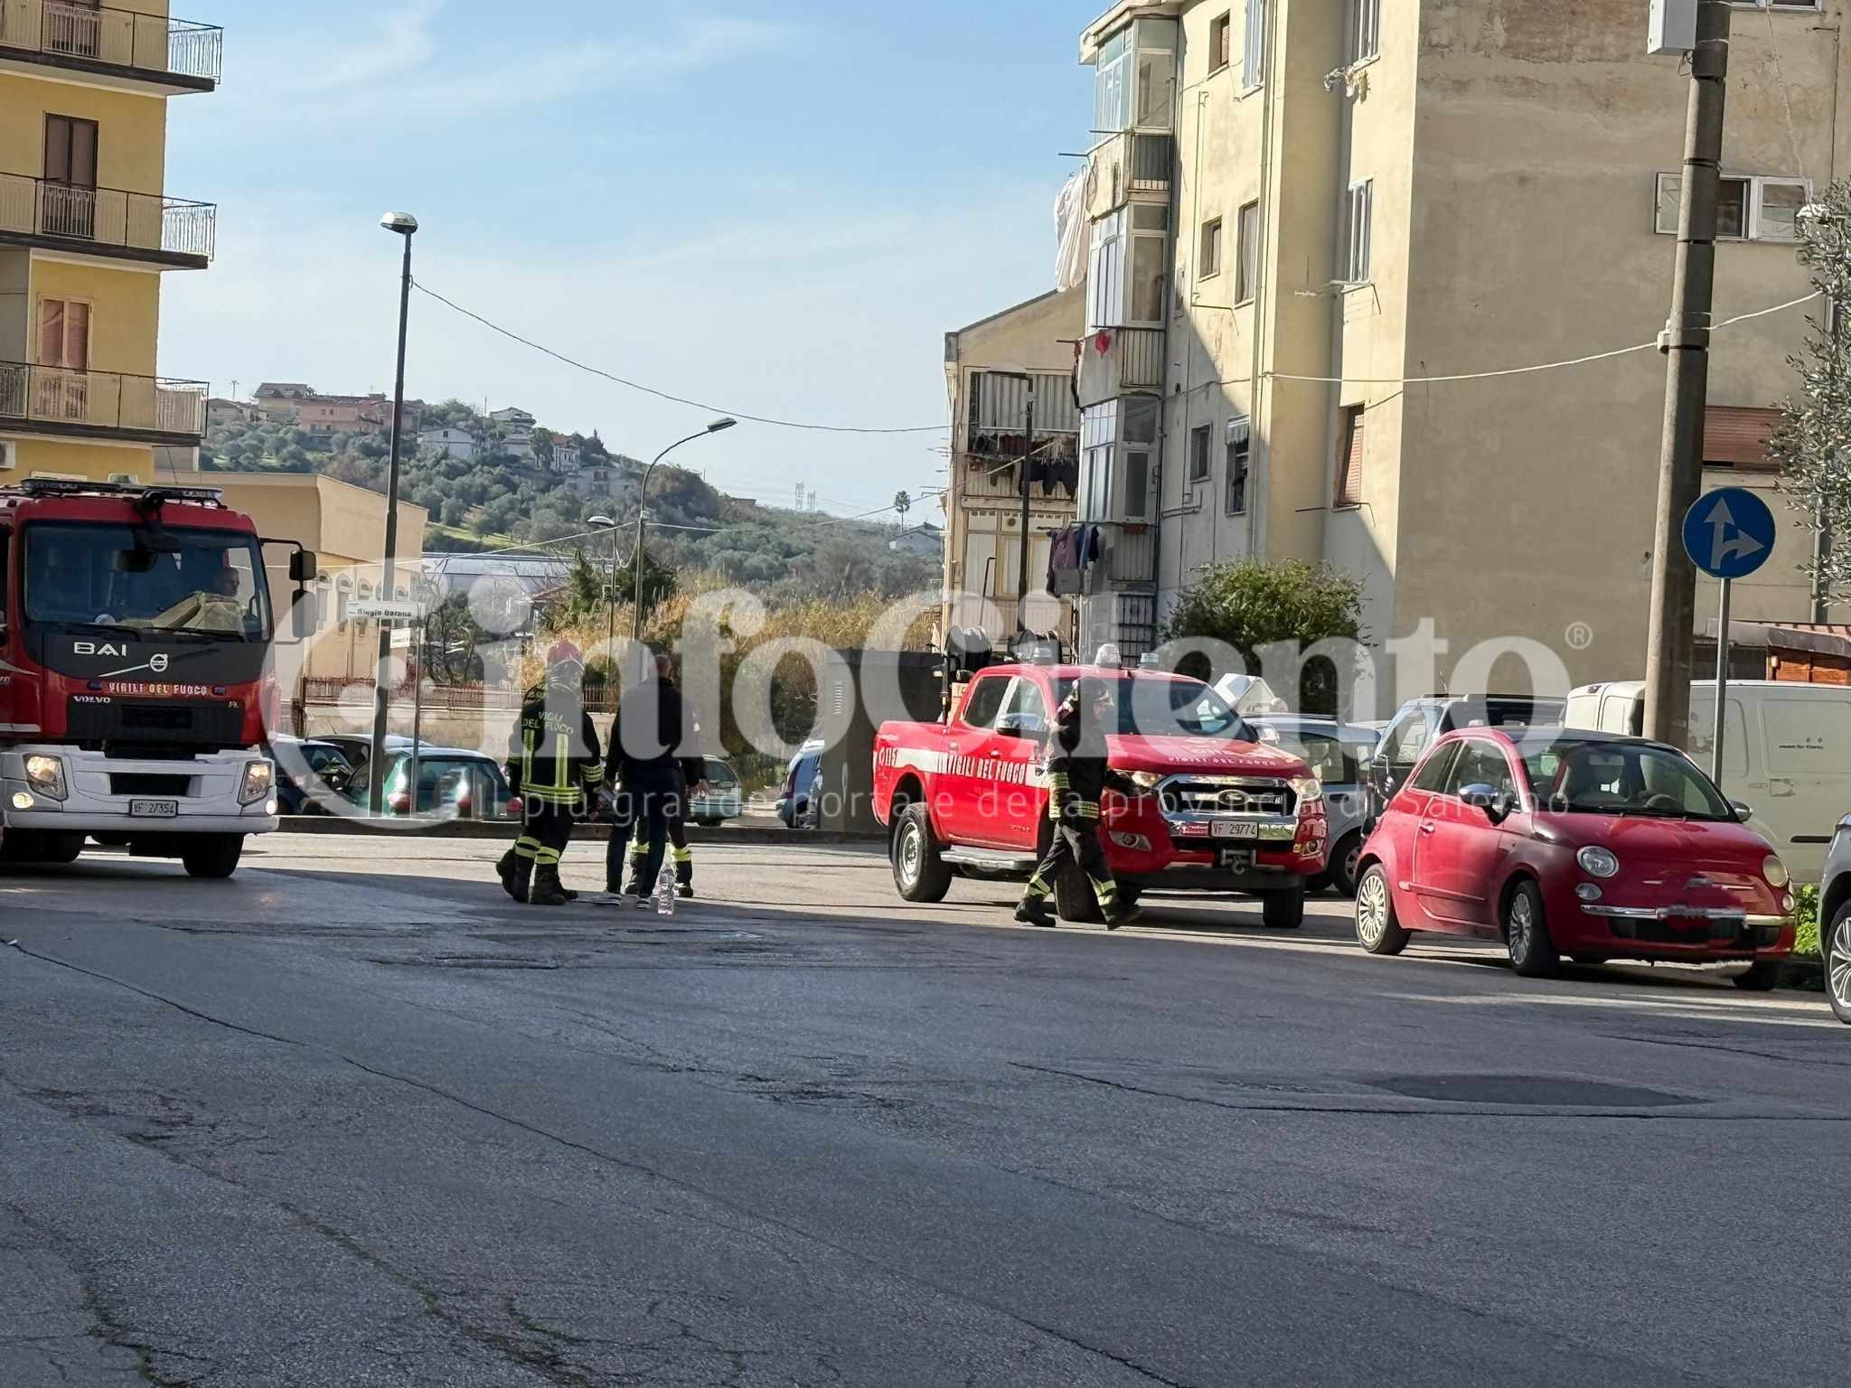
<instances>
[{"instance_id":1,"label":"tall beige apartment building behind the parked cars on the right","mask_svg":"<svg viewBox=\"0 0 1851 1388\"><path fill-rule=\"evenodd\" d=\"M1845 9L1734 6L1718 322L1808 291ZM1127 0L1087 28L1081 516L1118 537L1087 638L1142 650L1203 564L1294 557L1364 581L1377 646L1431 620L1451 659L1527 638L1577 681L1642 674L1662 355L1433 378L1655 341L1688 80L1646 43L1644 0ZM1710 485L1771 489L1808 311L1718 331ZM1810 527L1771 503L1734 614L1807 620Z\"/></svg>"}]
</instances>

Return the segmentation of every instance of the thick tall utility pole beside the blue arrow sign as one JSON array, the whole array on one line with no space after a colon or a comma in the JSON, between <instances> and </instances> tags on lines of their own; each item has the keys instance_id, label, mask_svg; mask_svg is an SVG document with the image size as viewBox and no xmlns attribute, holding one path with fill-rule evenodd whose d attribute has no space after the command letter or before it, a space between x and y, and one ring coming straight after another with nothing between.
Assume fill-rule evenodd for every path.
<instances>
[{"instance_id":1,"label":"thick tall utility pole beside the blue arrow sign","mask_svg":"<svg viewBox=\"0 0 1851 1388\"><path fill-rule=\"evenodd\" d=\"M1651 629L1646 638L1646 737L1690 740L1690 661L1697 570L1683 548L1684 513L1703 494L1703 411L1710 379L1716 289L1716 202L1729 80L1729 0L1697 0L1684 124L1684 202L1677 218L1671 316L1658 339L1668 357L1658 511L1651 542Z\"/></svg>"}]
</instances>

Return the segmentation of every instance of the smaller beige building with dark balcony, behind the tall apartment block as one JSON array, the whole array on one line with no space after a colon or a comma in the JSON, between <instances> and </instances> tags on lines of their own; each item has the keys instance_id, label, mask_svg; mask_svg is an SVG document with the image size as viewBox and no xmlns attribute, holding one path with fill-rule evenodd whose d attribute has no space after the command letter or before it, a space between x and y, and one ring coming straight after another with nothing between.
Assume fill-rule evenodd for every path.
<instances>
[{"instance_id":1,"label":"smaller beige building with dark balcony, behind the tall apartment block","mask_svg":"<svg viewBox=\"0 0 1851 1388\"><path fill-rule=\"evenodd\" d=\"M1057 529L1074 524L1079 405L1074 346L1085 294L1055 291L944 335L951 465L944 492L944 631L981 627L994 648L1016 633L1072 631L1072 600L1048 589ZM1027 405L1033 389L1035 433ZM1022 592L1022 498L1027 490L1029 589ZM1027 598L1025 603L1018 603Z\"/></svg>"}]
</instances>

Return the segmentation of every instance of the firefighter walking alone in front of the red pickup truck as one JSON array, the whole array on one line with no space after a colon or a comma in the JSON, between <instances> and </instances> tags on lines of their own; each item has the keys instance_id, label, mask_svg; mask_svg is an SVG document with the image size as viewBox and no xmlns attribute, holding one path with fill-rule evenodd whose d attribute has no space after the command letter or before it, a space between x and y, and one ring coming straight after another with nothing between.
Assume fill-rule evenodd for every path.
<instances>
[{"instance_id":1,"label":"firefighter walking alone in front of the red pickup truck","mask_svg":"<svg viewBox=\"0 0 1851 1388\"><path fill-rule=\"evenodd\" d=\"M1107 764L1105 729L1112 720L1112 687L1096 675L1083 675L1055 713L1053 742L1048 750L1048 816L1055 822L1053 846L1035 868L1016 920L1025 925L1053 925L1048 894L1068 864L1079 866L1092 883L1092 894L1105 914L1105 929L1116 931L1138 916L1122 905L1118 883L1099 846L1099 794L1111 787L1129 796L1138 788Z\"/></svg>"}]
</instances>

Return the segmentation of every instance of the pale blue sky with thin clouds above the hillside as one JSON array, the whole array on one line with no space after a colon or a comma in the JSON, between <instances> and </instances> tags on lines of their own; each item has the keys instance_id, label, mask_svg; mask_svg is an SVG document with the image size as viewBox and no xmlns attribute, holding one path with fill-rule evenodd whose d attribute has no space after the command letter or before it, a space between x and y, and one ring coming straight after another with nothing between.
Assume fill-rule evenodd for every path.
<instances>
[{"instance_id":1,"label":"pale blue sky with thin clouds above the hillside","mask_svg":"<svg viewBox=\"0 0 1851 1388\"><path fill-rule=\"evenodd\" d=\"M942 333L1051 289L1090 117L1094 13L1061 0L174 9L224 26L226 78L168 104L167 189L220 211L215 268L167 278L161 370L218 392L391 390L392 207L422 281L568 355L735 411L937 426ZM642 455L707 420L418 294L407 390ZM752 424L679 461L840 513L942 485L942 444Z\"/></svg>"}]
</instances>

